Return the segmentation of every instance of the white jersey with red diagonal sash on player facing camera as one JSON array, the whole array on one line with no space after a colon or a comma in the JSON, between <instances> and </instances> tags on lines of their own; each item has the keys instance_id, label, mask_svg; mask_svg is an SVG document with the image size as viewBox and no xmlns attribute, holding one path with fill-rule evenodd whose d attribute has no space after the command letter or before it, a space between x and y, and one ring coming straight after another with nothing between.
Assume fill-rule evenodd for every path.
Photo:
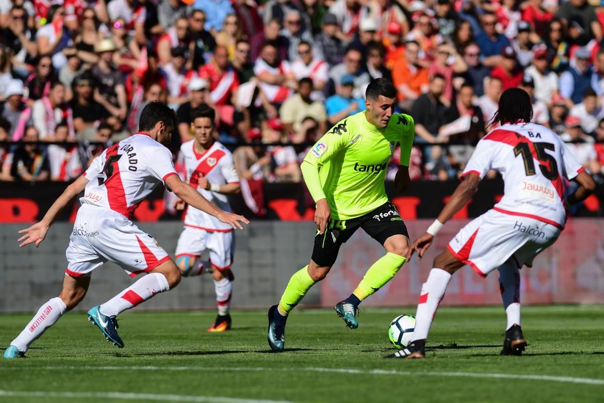
<instances>
[{"instance_id":1,"label":"white jersey with red diagonal sash on player facing camera","mask_svg":"<svg viewBox=\"0 0 604 403\"><path fill-rule=\"evenodd\" d=\"M235 170L233 154L219 142L215 142L204 153L199 154L194 149L196 140L182 143L181 157L186 172L185 181L201 193L204 198L213 202L223 211L231 211L228 197L222 193L212 192L199 187L199 178L207 178L211 184L225 185L239 183L239 176ZM179 159L180 159L179 158ZM225 224L210 214L197 208L188 206L185 214L185 227L199 228L202 230L228 232L232 231L231 225Z\"/></svg>"}]
</instances>

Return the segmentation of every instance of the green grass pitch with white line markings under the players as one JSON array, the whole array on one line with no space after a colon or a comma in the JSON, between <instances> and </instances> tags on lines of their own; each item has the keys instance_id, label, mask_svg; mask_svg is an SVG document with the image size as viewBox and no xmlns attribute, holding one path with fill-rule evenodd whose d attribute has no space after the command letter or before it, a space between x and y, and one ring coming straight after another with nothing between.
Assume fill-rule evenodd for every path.
<instances>
[{"instance_id":1,"label":"green grass pitch with white line markings under the players","mask_svg":"<svg viewBox=\"0 0 604 403\"><path fill-rule=\"evenodd\" d=\"M296 309L286 352L271 353L265 311L129 312L117 349L83 313L69 313L28 359L2 360L2 402L602 402L603 306L523 307L525 355L502 357L500 307L439 309L427 359L393 352L387 326L414 308L364 309L347 329L329 309ZM2 347L30 315L2 315Z\"/></svg>"}]
</instances>

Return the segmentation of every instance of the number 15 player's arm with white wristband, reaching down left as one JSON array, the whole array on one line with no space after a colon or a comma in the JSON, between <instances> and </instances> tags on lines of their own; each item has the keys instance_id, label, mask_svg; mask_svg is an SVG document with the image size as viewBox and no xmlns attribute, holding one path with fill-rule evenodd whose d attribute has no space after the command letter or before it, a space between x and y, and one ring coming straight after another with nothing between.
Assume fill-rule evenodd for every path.
<instances>
[{"instance_id":1,"label":"number 15 player's arm with white wristband, reaching down left","mask_svg":"<svg viewBox=\"0 0 604 403\"><path fill-rule=\"evenodd\" d=\"M480 175L477 173L471 172L463 177L463 181L457 186L451 199L449 199L449 202L445 205L443 211L440 212L439 217L434 221L434 224L428 228L425 234L413 242L413 245L409 248L407 259L413 256L415 252L417 252L417 257L422 259L423 254L425 254L430 245L432 245L432 240L434 240L434 236L440 230L440 227L449 221L451 217L476 194L479 183Z\"/></svg>"}]
</instances>

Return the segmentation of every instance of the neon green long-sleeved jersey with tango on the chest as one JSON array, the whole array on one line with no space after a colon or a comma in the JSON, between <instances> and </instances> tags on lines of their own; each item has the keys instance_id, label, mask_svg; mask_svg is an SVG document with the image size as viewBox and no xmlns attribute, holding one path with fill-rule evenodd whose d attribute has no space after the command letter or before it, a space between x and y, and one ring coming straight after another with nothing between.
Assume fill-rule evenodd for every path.
<instances>
[{"instance_id":1,"label":"neon green long-sleeved jersey with tango on the chest","mask_svg":"<svg viewBox=\"0 0 604 403\"><path fill-rule=\"evenodd\" d=\"M332 218L357 218L388 201L384 178L394 147L409 166L415 123L394 114L384 129L367 121L365 111L339 121L310 149L302 163L304 181L315 201L327 198Z\"/></svg>"}]
</instances>

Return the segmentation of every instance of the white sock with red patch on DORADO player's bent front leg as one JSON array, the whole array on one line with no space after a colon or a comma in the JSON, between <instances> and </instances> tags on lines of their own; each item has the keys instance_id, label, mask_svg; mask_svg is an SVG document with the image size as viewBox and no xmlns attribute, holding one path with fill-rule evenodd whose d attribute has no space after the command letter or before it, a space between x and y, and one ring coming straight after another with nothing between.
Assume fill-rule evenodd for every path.
<instances>
[{"instance_id":1,"label":"white sock with red patch on DORADO player's bent front leg","mask_svg":"<svg viewBox=\"0 0 604 403\"><path fill-rule=\"evenodd\" d=\"M117 316L126 309L133 308L143 301L153 297L158 292L168 291L168 280L161 273L151 273L138 280L133 285L115 295L111 300L101 305L101 313Z\"/></svg>"}]
</instances>

